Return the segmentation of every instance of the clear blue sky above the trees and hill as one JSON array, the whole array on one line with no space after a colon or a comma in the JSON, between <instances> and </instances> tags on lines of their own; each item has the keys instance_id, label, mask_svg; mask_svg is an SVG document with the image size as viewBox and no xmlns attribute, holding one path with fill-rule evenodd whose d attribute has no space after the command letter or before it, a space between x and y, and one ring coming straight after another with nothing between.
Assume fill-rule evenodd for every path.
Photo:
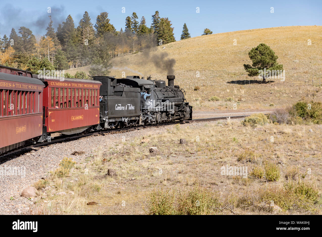
<instances>
[{"instance_id":1,"label":"clear blue sky above the trees and hill","mask_svg":"<svg viewBox=\"0 0 322 237\"><path fill-rule=\"evenodd\" d=\"M180 40L182 27L187 24L192 37L202 35L204 28L213 34L290 25L322 25L322 1L66 1L41 0L2 3L0 12L0 36L8 37L11 28L18 33L20 26L33 31L34 35L43 35L48 25L48 15L52 15L55 30L59 23L71 14L75 27L85 11L95 24L100 12L108 12L110 22L119 31L125 28L125 18L136 12L139 19L146 18L147 26L151 25L151 16L156 10L161 17L168 17L174 27L175 39ZM51 7L52 13L47 13ZM125 13L122 13L125 7ZM200 13L196 13L199 7ZM271 13L274 7L274 13Z\"/></svg>"}]
</instances>

